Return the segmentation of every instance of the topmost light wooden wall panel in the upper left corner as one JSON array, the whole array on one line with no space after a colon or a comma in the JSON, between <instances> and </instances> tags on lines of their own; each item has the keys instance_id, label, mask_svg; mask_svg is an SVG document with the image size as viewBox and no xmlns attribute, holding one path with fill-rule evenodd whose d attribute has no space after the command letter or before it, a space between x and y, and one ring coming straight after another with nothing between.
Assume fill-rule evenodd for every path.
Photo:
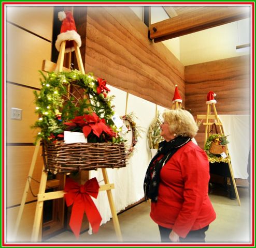
<instances>
[{"instance_id":1,"label":"topmost light wooden wall panel in the upper left corner","mask_svg":"<svg viewBox=\"0 0 256 248\"><path fill-rule=\"evenodd\" d=\"M6 19L30 32L52 40L53 7L8 6Z\"/></svg>"}]
</instances>

